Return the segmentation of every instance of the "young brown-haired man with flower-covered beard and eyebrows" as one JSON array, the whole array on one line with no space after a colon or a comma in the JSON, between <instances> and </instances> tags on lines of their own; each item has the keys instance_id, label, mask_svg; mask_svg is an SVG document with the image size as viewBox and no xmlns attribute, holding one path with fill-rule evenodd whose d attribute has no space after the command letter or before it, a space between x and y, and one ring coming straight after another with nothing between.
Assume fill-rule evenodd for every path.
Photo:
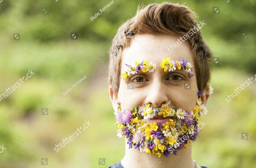
<instances>
[{"instance_id":1,"label":"young brown-haired man with flower-covered beard and eyebrows","mask_svg":"<svg viewBox=\"0 0 256 168\"><path fill-rule=\"evenodd\" d=\"M194 17L186 6L150 4L118 29L109 94L126 148L109 168L200 168L191 142L212 92L212 53Z\"/></svg>"}]
</instances>

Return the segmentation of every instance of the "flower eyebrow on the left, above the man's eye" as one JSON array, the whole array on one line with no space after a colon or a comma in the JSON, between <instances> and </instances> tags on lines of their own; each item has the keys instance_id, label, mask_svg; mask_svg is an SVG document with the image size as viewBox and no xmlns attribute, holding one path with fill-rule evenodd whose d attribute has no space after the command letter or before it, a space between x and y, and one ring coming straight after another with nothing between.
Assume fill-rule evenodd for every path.
<instances>
[{"instance_id":1,"label":"flower eyebrow on the left, above the man's eye","mask_svg":"<svg viewBox=\"0 0 256 168\"><path fill-rule=\"evenodd\" d=\"M124 71L124 74L121 74L121 77L125 80L127 79L127 77L129 77L131 74L137 74L137 72L149 72L152 73L156 70L156 63L152 62L152 61L142 61L141 63L139 62L135 62L135 65L128 65L128 69Z\"/></svg>"}]
</instances>

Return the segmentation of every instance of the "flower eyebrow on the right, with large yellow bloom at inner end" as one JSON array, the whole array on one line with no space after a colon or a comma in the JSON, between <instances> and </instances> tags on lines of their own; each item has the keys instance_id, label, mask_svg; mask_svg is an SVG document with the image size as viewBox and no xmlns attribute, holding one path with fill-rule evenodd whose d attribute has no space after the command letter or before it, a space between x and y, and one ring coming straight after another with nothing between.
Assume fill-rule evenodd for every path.
<instances>
[{"instance_id":1,"label":"flower eyebrow on the right, with large yellow bloom at inner end","mask_svg":"<svg viewBox=\"0 0 256 168\"><path fill-rule=\"evenodd\" d=\"M194 76L194 73L192 73L192 69L191 69L193 65L187 60L184 61L183 58L181 59L181 61L179 60L174 61L171 59L171 57L167 57L165 59L162 59L162 62L160 63L160 65L165 72L167 70L171 72L171 71L175 71L176 69L178 70L182 69L185 72L188 72L190 78Z\"/></svg>"}]
</instances>

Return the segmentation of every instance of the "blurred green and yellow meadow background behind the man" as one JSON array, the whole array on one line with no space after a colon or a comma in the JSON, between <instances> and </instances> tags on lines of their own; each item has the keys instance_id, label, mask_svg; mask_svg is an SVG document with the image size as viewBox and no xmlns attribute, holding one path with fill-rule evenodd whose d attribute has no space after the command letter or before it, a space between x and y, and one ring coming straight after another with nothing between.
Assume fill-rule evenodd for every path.
<instances>
[{"instance_id":1,"label":"blurred green and yellow meadow background behind the man","mask_svg":"<svg viewBox=\"0 0 256 168\"><path fill-rule=\"evenodd\" d=\"M0 101L0 168L105 168L124 156L108 95L108 50L138 5L162 0L0 0L0 94L33 69L35 75ZM218 63L212 72L206 125L193 159L209 168L256 167L256 82L230 103L227 94L256 74L256 0L174 0L205 20L201 29ZM213 8L219 13L215 14ZM19 33L19 40L13 34ZM77 40L71 39L75 33ZM62 92L83 76L70 93ZM49 115L41 115L48 108ZM55 144L92 123L59 153ZM248 133L247 140L241 134ZM106 165L99 165L106 158Z\"/></svg>"}]
</instances>

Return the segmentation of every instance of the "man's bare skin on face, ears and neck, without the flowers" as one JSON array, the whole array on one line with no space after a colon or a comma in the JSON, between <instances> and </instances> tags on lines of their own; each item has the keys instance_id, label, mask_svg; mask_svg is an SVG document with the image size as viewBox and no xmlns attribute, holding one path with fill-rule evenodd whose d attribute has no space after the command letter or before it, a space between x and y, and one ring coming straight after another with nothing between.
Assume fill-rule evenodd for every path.
<instances>
[{"instance_id":1,"label":"man's bare skin on face, ears and neck, without the flowers","mask_svg":"<svg viewBox=\"0 0 256 168\"><path fill-rule=\"evenodd\" d=\"M193 67L192 72L196 75L193 55L187 43L182 43L173 52L168 51L168 46L177 42L178 36L173 35L150 35L142 34L132 39L131 45L122 53L121 73L127 66L125 63L134 65L135 61L153 61L156 70L153 73L140 73L129 76L120 82L118 94L115 95L112 86L109 86L109 96L113 107L115 100L121 103L122 109L143 106L145 102L151 103L153 108L161 106L171 100L170 107L187 109L192 111L197 103L197 80L196 76L189 78L188 73L183 70L164 72L160 63L162 59L171 57L173 60L188 60ZM185 89L185 82L190 83L191 89ZM127 84L132 83L134 89L127 89ZM203 91L201 100L204 105L209 98ZM150 155L129 149L126 144L125 156L121 160L124 168L194 168L191 159L191 144L187 149L179 150L177 156L171 154L169 157ZM160 163L159 163L160 162ZM197 165L198 168L200 168Z\"/></svg>"}]
</instances>

